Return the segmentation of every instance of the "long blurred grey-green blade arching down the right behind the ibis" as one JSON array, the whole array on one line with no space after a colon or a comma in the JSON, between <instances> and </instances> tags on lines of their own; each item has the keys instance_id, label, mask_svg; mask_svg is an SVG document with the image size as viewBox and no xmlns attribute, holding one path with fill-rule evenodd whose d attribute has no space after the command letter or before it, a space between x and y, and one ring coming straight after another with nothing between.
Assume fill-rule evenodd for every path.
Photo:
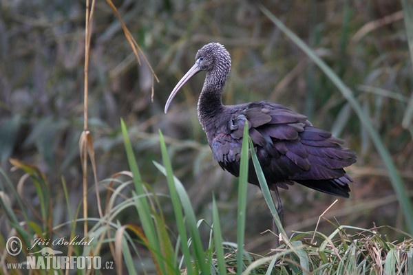
<instances>
[{"instance_id":1,"label":"long blurred grey-green blade arching down the right behind the ibis","mask_svg":"<svg viewBox=\"0 0 413 275\"><path fill-rule=\"evenodd\" d=\"M343 95L344 98L348 101L348 103L351 105L352 109L354 112L357 114L359 117L359 120L361 124L363 124L364 129L368 132L370 135L370 138L372 139L372 142L374 143L374 146L376 146L377 151L381 155L381 158L383 159L383 162L388 170L389 177L390 177L390 182L392 183L394 192L396 192L396 195L399 199L399 202L401 204L401 208L403 210L403 215L405 217L405 223L407 225L408 230L410 233L413 233L413 206L412 202L410 201L410 198L407 196L407 190L404 186L403 180L401 179L396 166L394 166L394 162L392 161L392 157L386 148L385 144L383 144L383 141L381 140L379 133L377 133L376 129L374 129L374 126L372 124L372 121L370 120L370 117L366 115L366 113L363 111L361 105L359 102L354 98L354 95L352 91L343 83L343 81L335 74L335 72L332 71L324 61L315 54L313 50L310 49L302 41L299 39L297 35L295 35L293 32L291 32L288 28L286 28L286 25L279 21L277 17L275 17L269 10L264 8L264 6L260 6L260 9L262 12L270 19L277 27L288 36L298 47L301 48L303 52L307 54L307 56L319 66L319 68L330 78L332 83L336 85L336 87L341 91L341 94Z\"/></svg>"}]
</instances>

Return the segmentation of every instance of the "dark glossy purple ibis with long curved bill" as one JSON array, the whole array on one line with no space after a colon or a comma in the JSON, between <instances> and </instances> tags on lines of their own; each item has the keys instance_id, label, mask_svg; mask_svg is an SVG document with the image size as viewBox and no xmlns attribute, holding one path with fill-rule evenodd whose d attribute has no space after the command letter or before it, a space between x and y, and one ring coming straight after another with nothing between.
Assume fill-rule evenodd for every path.
<instances>
[{"instance_id":1,"label":"dark glossy purple ibis with long curved bill","mask_svg":"<svg viewBox=\"0 0 413 275\"><path fill-rule=\"evenodd\" d=\"M180 88L202 71L207 74L198 99L198 118L213 158L235 177L240 175L242 137L248 122L248 134L268 188L275 192L281 221L284 209L278 188L288 189L297 183L329 195L350 196L349 184L354 180L343 168L354 164L357 155L343 147L343 140L313 126L306 115L282 104L266 101L222 104L222 92L231 72L231 56L220 43L208 43L198 50L195 64L171 91L165 113ZM260 186L251 163L250 157L248 182Z\"/></svg>"}]
</instances>

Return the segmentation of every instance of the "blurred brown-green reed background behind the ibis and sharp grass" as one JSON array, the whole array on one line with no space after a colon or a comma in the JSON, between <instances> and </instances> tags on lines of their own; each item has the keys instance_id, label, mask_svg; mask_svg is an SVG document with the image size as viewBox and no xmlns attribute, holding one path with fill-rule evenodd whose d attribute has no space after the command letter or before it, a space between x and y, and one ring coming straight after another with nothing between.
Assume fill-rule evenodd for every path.
<instances>
[{"instance_id":1,"label":"blurred brown-green reed background behind the ibis and sharp grass","mask_svg":"<svg viewBox=\"0 0 413 275\"><path fill-rule=\"evenodd\" d=\"M401 3L260 3L354 91L388 146L411 197L413 126L401 122L412 96L413 78ZM345 139L346 146L357 152L357 164L348 168L357 181L351 186L350 199L339 199L324 217L362 228L389 225L406 230L383 161L359 119L324 73L275 28L255 1L126 0L114 4L160 82L153 80L144 62L138 65L113 10L105 1L97 1L89 65L89 131L99 180L129 169L120 133L123 118L143 179L157 192L167 193L165 178L152 164L161 162L161 129L176 176L187 188L197 217L212 220L215 194L223 234L235 240L237 180L213 161L196 115L204 75L185 85L169 113L163 113L170 91L193 65L196 51L216 41L226 46L233 59L224 103L282 103ZM45 173L54 197L54 224L64 223L67 217L61 178L70 188L72 206L78 206L83 194L78 139L83 130L84 37L83 1L0 2L1 168L15 184L23 173L10 170L10 157ZM38 206L34 187L25 187L26 198ZM336 199L297 185L281 190L281 196L288 233L314 230L319 215ZM93 195L89 202L89 211L96 214ZM163 207L171 213L172 226L169 200ZM256 186L248 186L247 208L246 249L265 251L273 235L261 233L272 229L272 220ZM119 219L134 223L127 213ZM328 234L334 229L321 220L319 231Z\"/></svg>"}]
</instances>

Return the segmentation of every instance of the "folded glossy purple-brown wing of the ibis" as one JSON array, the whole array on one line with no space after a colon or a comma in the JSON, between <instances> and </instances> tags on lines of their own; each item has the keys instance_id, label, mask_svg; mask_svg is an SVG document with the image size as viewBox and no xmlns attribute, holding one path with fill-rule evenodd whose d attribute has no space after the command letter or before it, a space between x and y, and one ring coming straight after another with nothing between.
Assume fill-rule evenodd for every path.
<instances>
[{"instance_id":1,"label":"folded glossy purple-brown wing of the ibis","mask_svg":"<svg viewBox=\"0 0 413 275\"><path fill-rule=\"evenodd\" d=\"M308 179L339 179L343 184L352 181L344 176L343 167L355 162L355 154L341 147L342 140L314 127L305 115L268 102L246 104L234 113L228 132L217 135L211 144L215 159L233 175L239 173L246 121L268 183ZM254 180L251 178L250 182Z\"/></svg>"}]
</instances>

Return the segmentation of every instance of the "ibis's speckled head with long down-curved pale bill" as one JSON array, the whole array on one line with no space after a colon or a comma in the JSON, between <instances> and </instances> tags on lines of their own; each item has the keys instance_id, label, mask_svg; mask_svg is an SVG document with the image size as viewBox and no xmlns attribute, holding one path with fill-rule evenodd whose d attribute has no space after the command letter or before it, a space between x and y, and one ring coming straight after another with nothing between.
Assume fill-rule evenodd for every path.
<instances>
[{"instance_id":1,"label":"ibis's speckled head with long down-curved pale bill","mask_svg":"<svg viewBox=\"0 0 413 275\"><path fill-rule=\"evenodd\" d=\"M220 43L209 43L200 48L195 55L195 64L189 69L178 84L173 88L167 103L165 104L165 113L167 113L169 104L178 93L179 89L187 83L187 81L198 72L206 71L211 74L211 80L215 80L224 85L226 78L229 76L231 69L231 57L229 52Z\"/></svg>"}]
</instances>

